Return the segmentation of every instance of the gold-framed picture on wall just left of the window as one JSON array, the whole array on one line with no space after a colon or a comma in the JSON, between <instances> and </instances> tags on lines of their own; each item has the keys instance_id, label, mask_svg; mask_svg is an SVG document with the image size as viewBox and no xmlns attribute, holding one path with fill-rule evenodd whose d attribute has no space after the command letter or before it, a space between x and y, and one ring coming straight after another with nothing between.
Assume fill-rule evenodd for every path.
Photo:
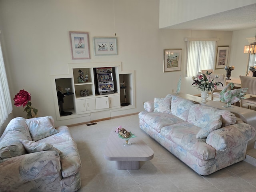
<instances>
[{"instance_id":1,"label":"gold-framed picture on wall just left of the window","mask_svg":"<svg viewBox=\"0 0 256 192\"><path fill-rule=\"evenodd\" d=\"M164 49L164 72L181 70L182 49Z\"/></svg>"}]
</instances>

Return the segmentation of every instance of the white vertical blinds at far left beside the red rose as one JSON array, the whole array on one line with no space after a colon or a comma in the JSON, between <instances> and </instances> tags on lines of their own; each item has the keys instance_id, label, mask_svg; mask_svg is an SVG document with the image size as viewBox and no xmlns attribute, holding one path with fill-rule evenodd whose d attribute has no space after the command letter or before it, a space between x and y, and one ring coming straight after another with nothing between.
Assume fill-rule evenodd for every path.
<instances>
[{"instance_id":1,"label":"white vertical blinds at far left beside the red rose","mask_svg":"<svg viewBox=\"0 0 256 192\"><path fill-rule=\"evenodd\" d=\"M7 82L4 66L4 58L0 42L0 126L4 123L8 115L12 112L12 101Z\"/></svg>"}]
</instances>

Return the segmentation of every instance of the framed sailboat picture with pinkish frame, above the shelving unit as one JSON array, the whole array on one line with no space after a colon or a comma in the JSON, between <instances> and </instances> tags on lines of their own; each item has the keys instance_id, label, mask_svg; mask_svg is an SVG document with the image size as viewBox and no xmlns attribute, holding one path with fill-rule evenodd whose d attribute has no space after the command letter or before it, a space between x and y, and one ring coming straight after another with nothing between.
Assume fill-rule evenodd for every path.
<instances>
[{"instance_id":1,"label":"framed sailboat picture with pinkish frame, above the shelving unit","mask_svg":"<svg viewBox=\"0 0 256 192\"><path fill-rule=\"evenodd\" d=\"M70 31L72 59L90 59L90 44L88 32Z\"/></svg>"}]
</instances>

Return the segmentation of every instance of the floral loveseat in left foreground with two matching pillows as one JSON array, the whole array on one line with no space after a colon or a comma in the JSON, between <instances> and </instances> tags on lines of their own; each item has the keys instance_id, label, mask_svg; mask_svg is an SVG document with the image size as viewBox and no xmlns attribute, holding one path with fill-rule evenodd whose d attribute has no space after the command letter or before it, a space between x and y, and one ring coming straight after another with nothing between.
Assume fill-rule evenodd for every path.
<instances>
[{"instance_id":1,"label":"floral loveseat in left foreground with two matching pillows","mask_svg":"<svg viewBox=\"0 0 256 192\"><path fill-rule=\"evenodd\" d=\"M0 191L74 192L80 156L67 126L50 116L12 119L0 138Z\"/></svg>"}]
</instances>

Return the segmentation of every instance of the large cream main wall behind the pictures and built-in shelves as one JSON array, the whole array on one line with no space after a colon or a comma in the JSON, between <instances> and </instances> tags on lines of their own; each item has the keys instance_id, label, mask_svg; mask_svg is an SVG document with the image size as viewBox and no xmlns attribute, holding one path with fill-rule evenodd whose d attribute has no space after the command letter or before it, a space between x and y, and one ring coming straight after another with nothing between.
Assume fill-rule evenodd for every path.
<instances>
[{"instance_id":1,"label":"large cream main wall behind the pictures and built-in shelves","mask_svg":"<svg viewBox=\"0 0 256 192\"><path fill-rule=\"evenodd\" d=\"M232 32L159 29L159 0L0 0L0 30L12 97L20 89L30 92L39 116L55 119L50 76L67 74L68 63L118 61L122 70L135 70L136 108L126 111L130 114L142 111L144 101L176 91L180 75L181 92L199 93L191 78L184 78L184 38L220 38L218 45L232 50ZM89 32L90 60L72 60L69 31ZM118 55L94 56L92 38L115 32ZM164 48L182 48L181 71L163 73ZM14 106L14 116L25 117L23 110Z\"/></svg>"}]
</instances>

